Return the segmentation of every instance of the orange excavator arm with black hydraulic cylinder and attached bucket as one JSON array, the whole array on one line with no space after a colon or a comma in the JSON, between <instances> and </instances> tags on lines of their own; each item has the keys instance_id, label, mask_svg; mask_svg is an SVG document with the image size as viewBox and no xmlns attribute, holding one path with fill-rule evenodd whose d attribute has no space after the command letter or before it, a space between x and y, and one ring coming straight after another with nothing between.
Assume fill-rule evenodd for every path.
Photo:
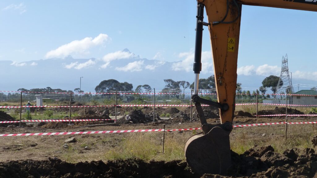
<instances>
[{"instance_id":1,"label":"orange excavator arm with black hydraulic cylinder and attached bucket","mask_svg":"<svg viewBox=\"0 0 317 178\"><path fill-rule=\"evenodd\" d=\"M242 5L317 11L317 0L197 0L193 100L203 132L185 144L186 161L199 174L225 174L231 165L229 134L235 111L237 58ZM204 8L207 22L204 22ZM198 96L203 26L208 26L218 102ZM201 104L219 108L221 124L208 124Z\"/></svg>"}]
</instances>

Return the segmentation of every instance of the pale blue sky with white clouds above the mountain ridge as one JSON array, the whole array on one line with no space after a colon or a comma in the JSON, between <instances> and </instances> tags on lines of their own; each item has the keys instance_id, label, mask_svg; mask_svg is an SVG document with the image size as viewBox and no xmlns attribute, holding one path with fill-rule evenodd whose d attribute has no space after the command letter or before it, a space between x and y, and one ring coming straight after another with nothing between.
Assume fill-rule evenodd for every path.
<instances>
[{"instance_id":1,"label":"pale blue sky with white clouds above the mountain ridge","mask_svg":"<svg viewBox=\"0 0 317 178\"><path fill-rule=\"evenodd\" d=\"M1 1L0 60L19 67L24 61L67 55L102 59L128 48L141 58L189 66L196 10L195 0ZM279 75L287 53L293 79L317 80L317 12L242 10L239 76ZM212 63L206 27L203 52Z\"/></svg>"}]
</instances>

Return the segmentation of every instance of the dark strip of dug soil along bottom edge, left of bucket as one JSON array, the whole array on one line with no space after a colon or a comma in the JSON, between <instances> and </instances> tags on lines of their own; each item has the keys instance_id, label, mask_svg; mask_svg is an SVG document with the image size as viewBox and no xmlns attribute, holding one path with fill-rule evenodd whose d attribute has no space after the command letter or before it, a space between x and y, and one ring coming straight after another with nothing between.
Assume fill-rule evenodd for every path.
<instances>
[{"instance_id":1,"label":"dark strip of dug soil along bottom edge, left of bucket","mask_svg":"<svg viewBox=\"0 0 317 178\"><path fill-rule=\"evenodd\" d=\"M44 161L7 161L0 163L0 177L183 177L194 175L181 161L144 162L142 160L92 161L75 164L57 158Z\"/></svg>"}]
</instances>

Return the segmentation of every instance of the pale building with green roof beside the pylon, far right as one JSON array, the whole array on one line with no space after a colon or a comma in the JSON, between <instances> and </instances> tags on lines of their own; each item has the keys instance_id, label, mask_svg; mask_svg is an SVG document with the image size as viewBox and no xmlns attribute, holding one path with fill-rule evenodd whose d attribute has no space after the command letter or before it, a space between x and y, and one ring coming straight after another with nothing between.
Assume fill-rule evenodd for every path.
<instances>
[{"instance_id":1,"label":"pale building with green roof beside the pylon, far right","mask_svg":"<svg viewBox=\"0 0 317 178\"><path fill-rule=\"evenodd\" d=\"M301 90L292 96L293 105L317 105L316 90Z\"/></svg>"}]
</instances>

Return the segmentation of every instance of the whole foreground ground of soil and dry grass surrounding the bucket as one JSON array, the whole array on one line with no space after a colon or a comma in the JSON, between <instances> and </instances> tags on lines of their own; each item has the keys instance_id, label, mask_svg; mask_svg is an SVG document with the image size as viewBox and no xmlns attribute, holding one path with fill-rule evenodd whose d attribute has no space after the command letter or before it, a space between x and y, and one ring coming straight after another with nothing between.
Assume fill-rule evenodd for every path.
<instances>
[{"instance_id":1,"label":"whole foreground ground of soil and dry grass surrounding the bucket","mask_svg":"<svg viewBox=\"0 0 317 178\"><path fill-rule=\"evenodd\" d=\"M316 118L289 118L288 122ZM218 118L207 119L210 124ZM285 118L236 116L233 125L284 122ZM200 121L171 118L159 123L105 121L0 126L0 134L199 128ZM234 128L230 133L233 177L314 177L317 125L285 124ZM186 163L184 144L200 130L0 137L0 177L224 177L198 175ZM74 137L73 142L65 142ZM203 148L204 149L204 148ZM199 151L199 150L197 150ZM158 171L160 170L160 171Z\"/></svg>"}]
</instances>

